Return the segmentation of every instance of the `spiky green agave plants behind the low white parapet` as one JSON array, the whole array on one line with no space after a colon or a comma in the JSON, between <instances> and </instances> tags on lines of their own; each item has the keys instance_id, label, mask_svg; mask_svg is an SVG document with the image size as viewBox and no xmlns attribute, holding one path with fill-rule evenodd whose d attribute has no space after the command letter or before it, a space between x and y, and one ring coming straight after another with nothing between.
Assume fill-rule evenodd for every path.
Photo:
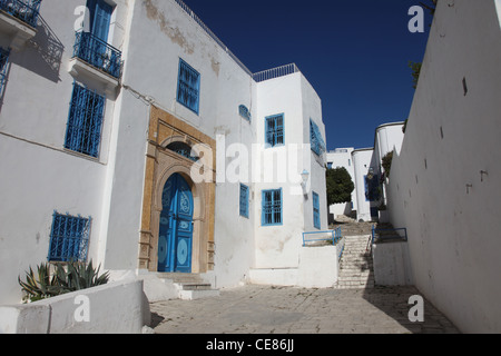
<instances>
[{"instance_id":1,"label":"spiky green agave plants behind the low white parapet","mask_svg":"<svg viewBox=\"0 0 501 356\"><path fill-rule=\"evenodd\" d=\"M37 266L37 275L30 267L30 270L26 273L26 281L18 277L24 294L23 301L37 301L107 284L109 273L99 276L99 269L100 267L94 268L92 261L87 266L82 263L70 261L66 265L66 268L62 264L58 264L55 274L51 276L50 264L42 263Z\"/></svg>"}]
</instances>

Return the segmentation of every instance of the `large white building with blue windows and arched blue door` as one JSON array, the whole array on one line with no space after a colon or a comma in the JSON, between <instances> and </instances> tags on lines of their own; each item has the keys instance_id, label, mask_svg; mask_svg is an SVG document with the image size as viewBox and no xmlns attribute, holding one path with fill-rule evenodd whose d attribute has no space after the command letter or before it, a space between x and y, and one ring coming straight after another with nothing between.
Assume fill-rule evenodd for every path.
<instances>
[{"instance_id":1,"label":"large white building with blue windows and arched blue door","mask_svg":"<svg viewBox=\"0 0 501 356\"><path fill-rule=\"evenodd\" d=\"M266 283L327 229L315 90L252 73L183 1L3 1L0 47L0 303L75 258Z\"/></svg>"}]
</instances>

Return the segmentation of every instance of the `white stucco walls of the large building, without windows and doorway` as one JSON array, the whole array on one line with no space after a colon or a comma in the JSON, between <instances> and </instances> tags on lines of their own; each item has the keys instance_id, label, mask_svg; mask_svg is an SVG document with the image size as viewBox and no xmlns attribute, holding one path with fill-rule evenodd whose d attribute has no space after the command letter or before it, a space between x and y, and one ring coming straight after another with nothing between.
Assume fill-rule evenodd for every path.
<instances>
[{"instance_id":1,"label":"white stucco walls of the large building, without windows and doorway","mask_svg":"<svg viewBox=\"0 0 501 356\"><path fill-rule=\"evenodd\" d=\"M124 61L119 79L73 58L75 13L85 0L43 1L36 36L9 56L0 111L0 304L17 303L18 276L47 260L55 210L91 217L87 258L96 265L138 269L153 107L223 144L214 152L224 169L214 167L214 215L204 217L214 218L207 222L214 228L214 261L205 274L215 287L247 280L253 268L296 268L302 233L315 229L312 191L320 197L321 228L327 229L325 154L310 148L310 120L323 140L325 127L307 79L294 66L285 76L272 71L269 79L256 80L179 1L106 2L114 7L108 43ZM11 46L0 27L0 47ZM180 60L199 73L198 112L177 100ZM96 158L65 148L73 81L106 96ZM239 106L248 108L250 120ZM277 113L284 115L285 141L266 148L265 119ZM248 160L239 162L243 147ZM276 166L267 157L275 154L287 157L285 179L267 176L269 165ZM239 214L240 184L249 187L248 217ZM282 189L281 225L262 224L266 189Z\"/></svg>"}]
</instances>

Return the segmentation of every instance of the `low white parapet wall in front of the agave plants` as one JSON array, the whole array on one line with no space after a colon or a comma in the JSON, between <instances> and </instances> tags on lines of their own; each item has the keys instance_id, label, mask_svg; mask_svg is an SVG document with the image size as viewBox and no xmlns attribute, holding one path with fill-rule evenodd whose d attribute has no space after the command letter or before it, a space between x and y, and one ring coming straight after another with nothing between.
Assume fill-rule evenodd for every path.
<instances>
[{"instance_id":1,"label":"low white parapet wall in front of the agave plants","mask_svg":"<svg viewBox=\"0 0 501 356\"><path fill-rule=\"evenodd\" d=\"M0 306L0 334L140 334L149 323L143 280L109 283L31 304Z\"/></svg>"}]
</instances>

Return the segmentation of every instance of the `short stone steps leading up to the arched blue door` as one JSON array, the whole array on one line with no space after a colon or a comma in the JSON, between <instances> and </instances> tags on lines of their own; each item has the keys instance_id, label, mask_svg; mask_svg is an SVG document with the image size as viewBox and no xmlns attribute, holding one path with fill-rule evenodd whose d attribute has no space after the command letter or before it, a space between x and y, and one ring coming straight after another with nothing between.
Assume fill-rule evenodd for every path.
<instances>
[{"instance_id":1,"label":"short stone steps leading up to the arched blue door","mask_svg":"<svg viewBox=\"0 0 501 356\"><path fill-rule=\"evenodd\" d=\"M214 289L198 274L159 273L158 277L173 281L178 289L179 299L195 300L219 296L219 289Z\"/></svg>"}]
</instances>

